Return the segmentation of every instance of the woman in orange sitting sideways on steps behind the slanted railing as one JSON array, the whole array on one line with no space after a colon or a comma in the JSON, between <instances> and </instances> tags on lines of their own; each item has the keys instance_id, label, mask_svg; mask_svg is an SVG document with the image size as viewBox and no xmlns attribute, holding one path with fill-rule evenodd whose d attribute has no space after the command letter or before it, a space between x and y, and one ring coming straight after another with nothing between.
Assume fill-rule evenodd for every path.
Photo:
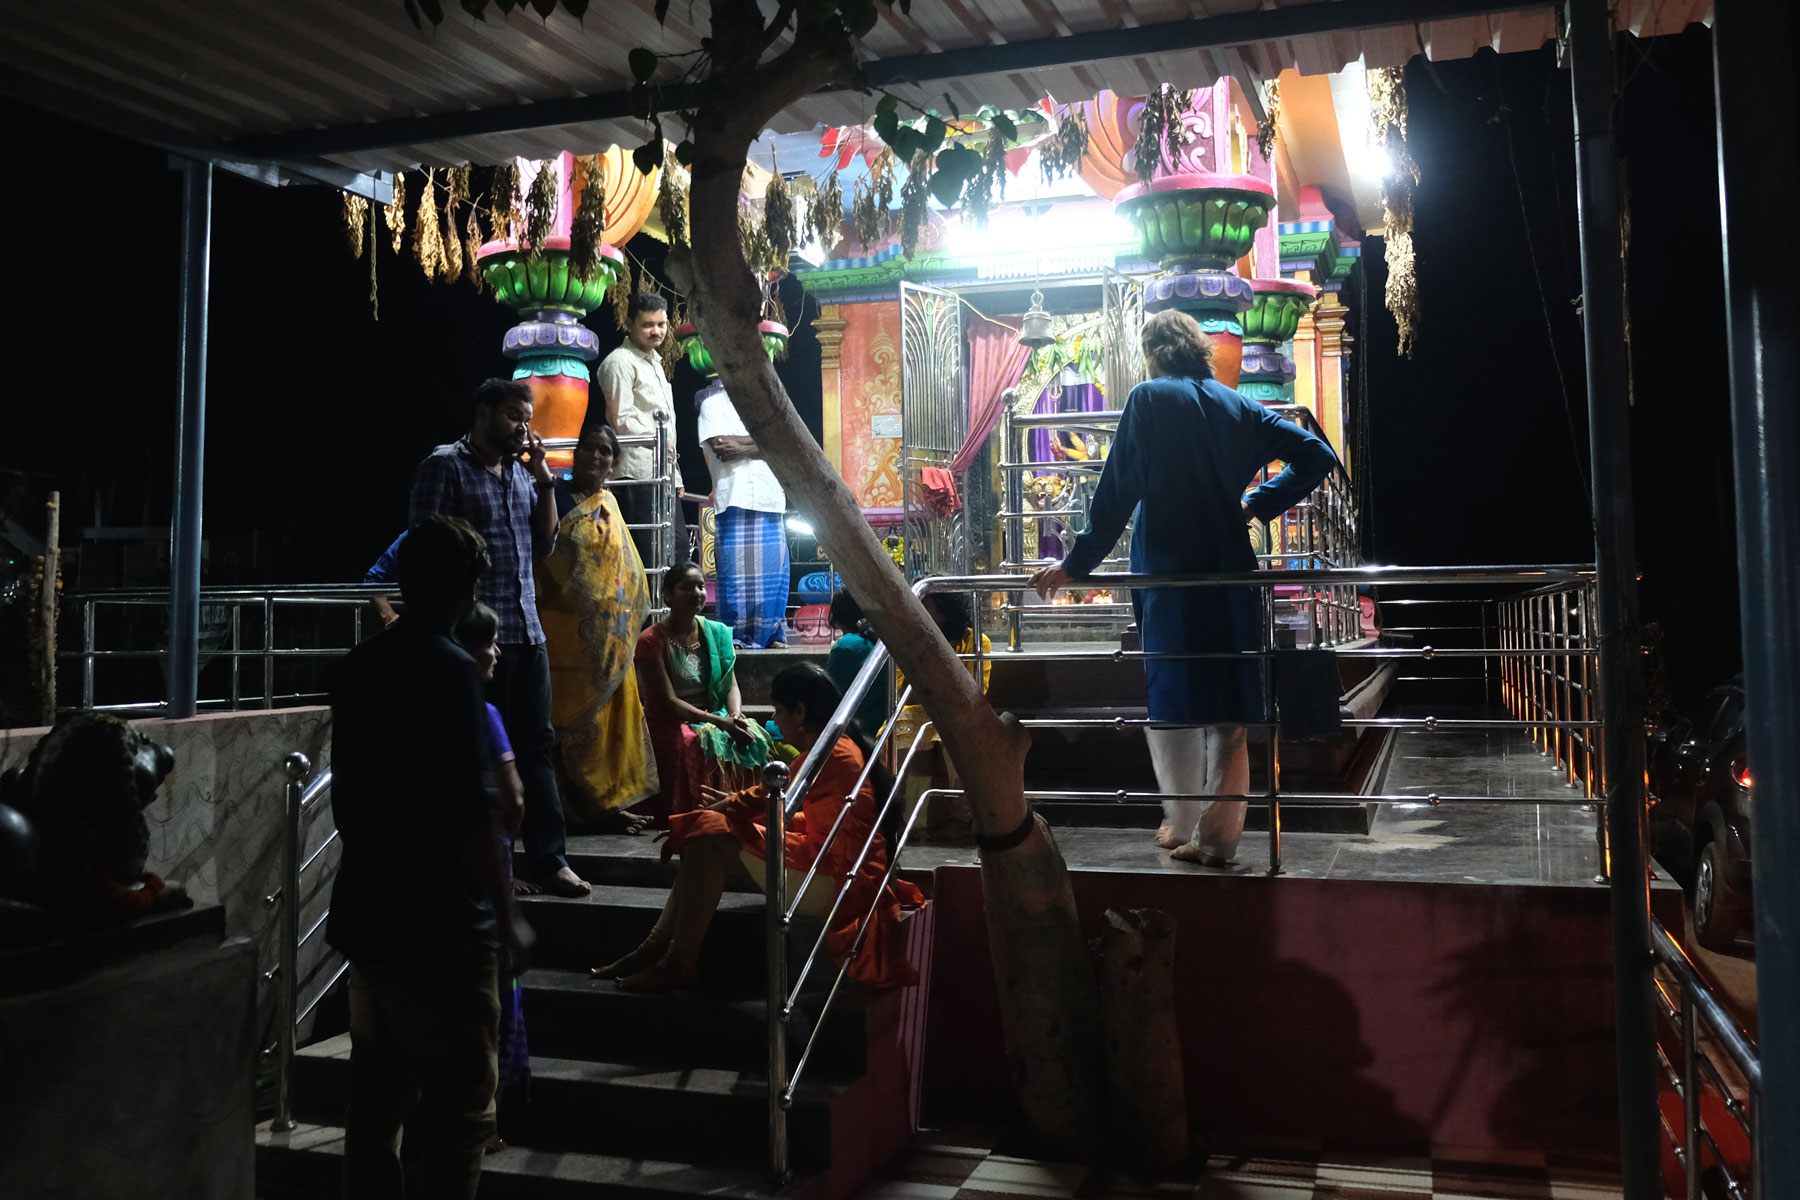
<instances>
[{"instance_id":1,"label":"woman in orange sitting sideways on steps behind the slanted railing","mask_svg":"<svg viewBox=\"0 0 1800 1200\"><path fill-rule=\"evenodd\" d=\"M805 756L817 745L842 694L815 666L788 667L774 678L770 691L783 739ZM788 819L781 860L790 903L799 894L806 871L819 864L812 885L799 896L801 916L828 916L837 894L846 882L850 883L826 930L826 952L839 964L848 961L850 977L857 982L904 988L914 982L918 973L905 959L900 916L923 907L925 900L916 887L898 878L886 892L880 891L887 871L887 840L873 833L880 811L875 797L889 793L893 784L878 765L869 772L871 779L862 779L866 754L868 741L851 723L830 747L824 765L801 797L799 811ZM860 788L859 779L862 779ZM855 799L846 799L851 795ZM846 802L848 813L844 813ZM617 963L594 968L594 975L617 979L619 988L626 991L671 991L698 982L700 943L706 939L727 880L765 885L769 871L765 811L767 799L761 788L747 788L733 795L709 792L706 808L675 815L670 820L670 844L682 858L662 916L643 945ZM826 846L826 835L841 813L842 824ZM869 855L857 865L857 851L869 838L873 838ZM875 921L864 932L862 919L871 907Z\"/></svg>"}]
</instances>

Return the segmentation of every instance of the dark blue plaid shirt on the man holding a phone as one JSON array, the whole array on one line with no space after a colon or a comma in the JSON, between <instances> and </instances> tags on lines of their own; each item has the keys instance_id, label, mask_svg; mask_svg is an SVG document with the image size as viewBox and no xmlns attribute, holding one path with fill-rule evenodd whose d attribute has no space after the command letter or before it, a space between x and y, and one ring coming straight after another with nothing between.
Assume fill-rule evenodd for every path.
<instances>
[{"instance_id":1,"label":"dark blue plaid shirt on the man holding a phone","mask_svg":"<svg viewBox=\"0 0 1800 1200\"><path fill-rule=\"evenodd\" d=\"M544 642L531 561L549 554L556 538L538 542L531 520L536 504L536 486L522 462L506 459L504 470L495 475L482 466L468 437L432 450L412 475L409 529L443 513L466 520L488 540L493 567L475 585L475 596L500 617L502 646Z\"/></svg>"}]
</instances>

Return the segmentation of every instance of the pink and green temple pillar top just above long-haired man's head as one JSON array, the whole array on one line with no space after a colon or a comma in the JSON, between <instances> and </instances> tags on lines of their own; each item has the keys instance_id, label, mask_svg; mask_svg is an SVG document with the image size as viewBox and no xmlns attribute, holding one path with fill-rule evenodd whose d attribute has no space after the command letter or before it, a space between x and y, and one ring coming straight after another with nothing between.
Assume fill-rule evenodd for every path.
<instances>
[{"instance_id":1,"label":"pink and green temple pillar top just above long-haired man's head","mask_svg":"<svg viewBox=\"0 0 1800 1200\"><path fill-rule=\"evenodd\" d=\"M1181 122L1188 140L1172 169L1121 189L1114 209L1165 270L1145 286L1145 311L1190 313L1213 338L1213 374L1237 387L1242 315L1255 304L1240 261L1255 263L1256 236L1274 210L1274 184L1233 112L1231 79L1195 90Z\"/></svg>"}]
</instances>

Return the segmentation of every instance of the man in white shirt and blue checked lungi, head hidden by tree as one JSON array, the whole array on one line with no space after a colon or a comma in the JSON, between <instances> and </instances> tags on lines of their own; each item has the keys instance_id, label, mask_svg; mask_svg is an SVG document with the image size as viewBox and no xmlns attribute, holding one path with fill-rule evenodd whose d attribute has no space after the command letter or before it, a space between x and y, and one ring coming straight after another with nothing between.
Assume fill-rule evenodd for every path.
<instances>
[{"instance_id":1,"label":"man in white shirt and blue checked lungi, head hidden by tree","mask_svg":"<svg viewBox=\"0 0 1800 1200\"><path fill-rule=\"evenodd\" d=\"M713 380L695 396L700 446L713 471L718 558L718 619L738 646L787 646L787 493L769 470L725 385Z\"/></svg>"}]
</instances>

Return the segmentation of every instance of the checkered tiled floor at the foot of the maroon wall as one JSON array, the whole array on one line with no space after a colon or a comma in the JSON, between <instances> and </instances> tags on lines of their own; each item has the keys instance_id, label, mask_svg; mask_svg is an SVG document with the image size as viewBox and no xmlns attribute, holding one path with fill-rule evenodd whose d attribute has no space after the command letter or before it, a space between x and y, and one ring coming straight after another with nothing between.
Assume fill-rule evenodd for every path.
<instances>
[{"instance_id":1,"label":"checkered tiled floor at the foot of the maroon wall","mask_svg":"<svg viewBox=\"0 0 1800 1200\"><path fill-rule=\"evenodd\" d=\"M1161 1173L1019 1159L994 1150L985 1130L929 1130L859 1200L1611 1200L1615 1171L1541 1153L1440 1146L1431 1155L1382 1157L1291 1148L1226 1155Z\"/></svg>"}]
</instances>

